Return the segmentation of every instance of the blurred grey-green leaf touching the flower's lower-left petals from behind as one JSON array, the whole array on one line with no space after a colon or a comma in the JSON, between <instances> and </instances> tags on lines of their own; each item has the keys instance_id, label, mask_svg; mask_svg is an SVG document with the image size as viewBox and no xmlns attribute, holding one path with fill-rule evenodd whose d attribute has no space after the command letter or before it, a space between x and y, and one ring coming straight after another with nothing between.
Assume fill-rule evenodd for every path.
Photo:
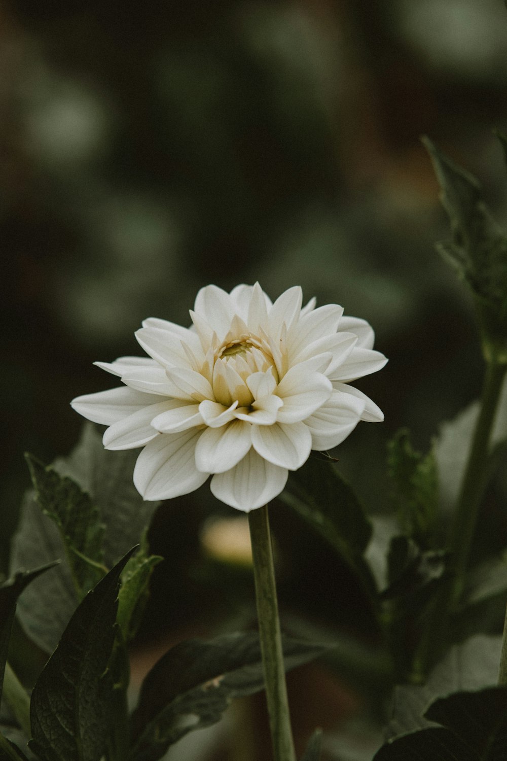
<instances>
[{"instance_id":1,"label":"blurred grey-green leaf touching the flower's lower-left petals from behind","mask_svg":"<svg viewBox=\"0 0 507 761\"><path fill-rule=\"evenodd\" d=\"M69 476L97 505L106 526L104 563L108 568L141 540L160 502L148 502L134 486L132 474L138 450L111 452L92 423L85 423L81 439L69 457L55 460L54 468Z\"/></svg>"}]
</instances>

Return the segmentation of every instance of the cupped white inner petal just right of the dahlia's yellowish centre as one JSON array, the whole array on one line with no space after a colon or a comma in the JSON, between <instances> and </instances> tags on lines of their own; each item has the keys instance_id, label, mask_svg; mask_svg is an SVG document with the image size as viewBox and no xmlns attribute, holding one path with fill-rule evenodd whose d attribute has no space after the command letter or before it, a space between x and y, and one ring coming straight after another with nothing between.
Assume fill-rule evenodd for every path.
<instances>
[{"instance_id":1,"label":"cupped white inner petal just right of the dahlia's yellowish centre","mask_svg":"<svg viewBox=\"0 0 507 761\"><path fill-rule=\"evenodd\" d=\"M290 368L277 385L277 396L284 400L284 406L278 412L278 422L304 420L331 396L331 382L322 373L309 371L309 363L311 360Z\"/></svg>"}]
</instances>

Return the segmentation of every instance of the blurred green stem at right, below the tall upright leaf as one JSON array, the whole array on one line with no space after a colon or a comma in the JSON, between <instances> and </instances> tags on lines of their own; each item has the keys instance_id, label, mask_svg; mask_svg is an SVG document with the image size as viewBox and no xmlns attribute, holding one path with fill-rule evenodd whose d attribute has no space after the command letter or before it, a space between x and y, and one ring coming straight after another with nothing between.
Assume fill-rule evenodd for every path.
<instances>
[{"instance_id":1,"label":"blurred green stem at right, below the tall upright leaf","mask_svg":"<svg viewBox=\"0 0 507 761\"><path fill-rule=\"evenodd\" d=\"M451 607L455 607L463 593L464 577L467 572L471 545L477 527L480 501L486 486L489 470L491 431L495 421L495 413L502 391L505 371L507 371L507 365L505 364L499 364L496 361L486 363L480 414L475 426L467 468L461 484L452 534L451 549L454 581L452 584L452 596L449 600Z\"/></svg>"}]
</instances>

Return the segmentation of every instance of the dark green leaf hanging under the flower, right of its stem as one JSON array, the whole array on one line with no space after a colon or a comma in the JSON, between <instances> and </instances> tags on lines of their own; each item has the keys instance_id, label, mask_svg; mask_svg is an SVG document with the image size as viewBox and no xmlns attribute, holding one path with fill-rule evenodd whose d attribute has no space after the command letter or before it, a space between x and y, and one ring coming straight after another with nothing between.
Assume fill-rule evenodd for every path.
<instances>
[{"instance_id":1,"label":"dark green leaf hanging under the flower, right of its stem","mask_svg":"<svg viewBox=\"0 0 507 761\"><path fill-rule=\"evenodd\" d=\"M290 473L280 499L340 554L365 590L374 594L375 580L363 557L372 537L372 525L331 459L309 457L302 468Z\"/></svg>"}]
</instances>

